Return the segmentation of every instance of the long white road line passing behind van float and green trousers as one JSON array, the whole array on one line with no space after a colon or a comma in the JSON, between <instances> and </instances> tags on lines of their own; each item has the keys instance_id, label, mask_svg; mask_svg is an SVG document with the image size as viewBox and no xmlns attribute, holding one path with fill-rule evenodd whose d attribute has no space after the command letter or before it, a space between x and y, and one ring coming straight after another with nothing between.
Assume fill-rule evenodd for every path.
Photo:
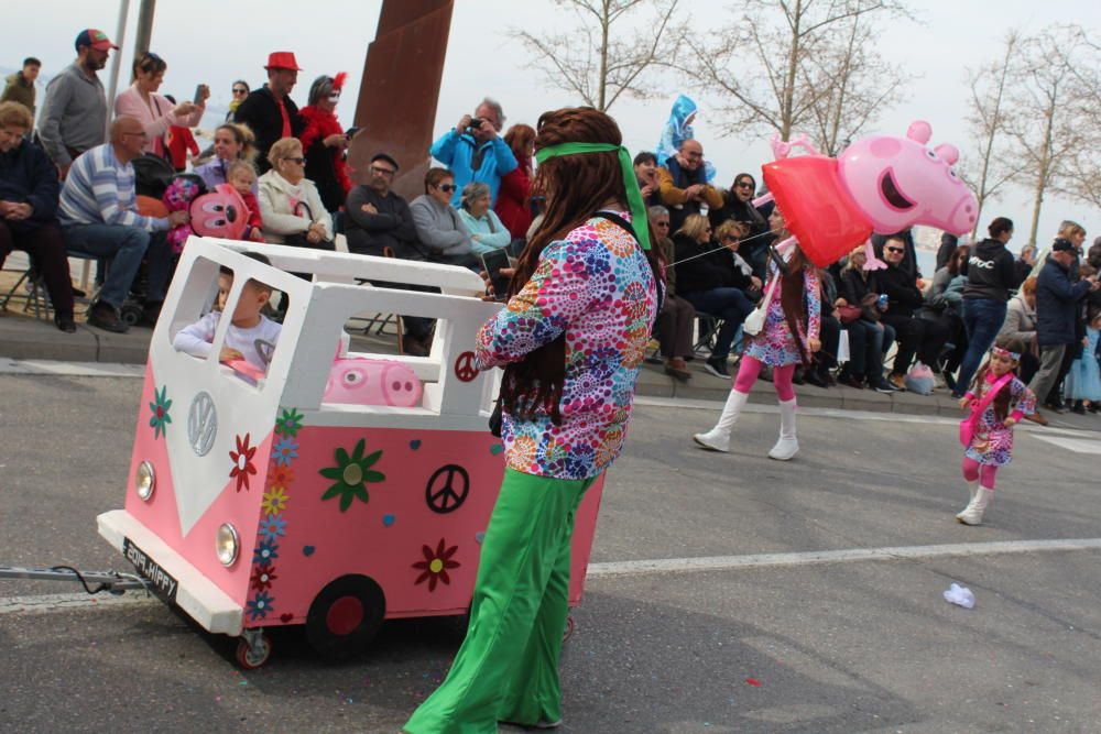
<instances>
[{"instance_id":1,"label":"long white road line passing behind van float and green trousers","mask_svg":"<svg viewBox=\"0 0 1101 734\"><path fill-rule=\"evenodd\" d=\"M1072 550L1101 550L1101 538L1058 540L1006 540L1000 543L958 543L937 546L896 546L885 548L849 548L811 550L793 554L753 554L745 556L708 556L699 558L658 558L653 560L589 563L589 579L655 576L704 571L733 571L759 568L792 568L853 561L916 560L967 556L996 556ZM41 594L0 598L0 616L4 614L48 614L85 611L92 607L124 607L159 604L156 598L142 591L128 591L121 596L108 594Z\"/></svg>"}]
</instances>

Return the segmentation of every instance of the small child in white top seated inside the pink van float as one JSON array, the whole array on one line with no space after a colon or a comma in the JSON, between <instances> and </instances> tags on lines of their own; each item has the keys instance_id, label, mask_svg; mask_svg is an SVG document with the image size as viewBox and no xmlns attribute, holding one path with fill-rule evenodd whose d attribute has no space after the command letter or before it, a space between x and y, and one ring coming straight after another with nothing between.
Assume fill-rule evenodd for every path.
<instances>
[{"instance_id":1,"label":"small child in white top seated inside the pink van float","mask_svg":"<svg viewBox=\"0 0 1101 734\"><path fill-rule=\"evenodd\" d=\"M244 256L271 265L271 261L259 253L246 252ZM222 309L226 307L226 299L232 287L233 271L222 266L218 273L217 308L195 324L179 330L179 333L172 340L172 346L177 351L192 357L207 358L214 342L215 330L221 320ZM218 355L219 362L244 360L261 371L268 371L268 359L260 353L257 341L266 342L274 347L275 342L279 341L280 330L283 328L260 313L271 297L272 287L270 285L254 278L250 278L244 284L244 287L241 288L241 295L237 299L237 307L233 309L225 346Z\"/></svg>"}]
</instances>

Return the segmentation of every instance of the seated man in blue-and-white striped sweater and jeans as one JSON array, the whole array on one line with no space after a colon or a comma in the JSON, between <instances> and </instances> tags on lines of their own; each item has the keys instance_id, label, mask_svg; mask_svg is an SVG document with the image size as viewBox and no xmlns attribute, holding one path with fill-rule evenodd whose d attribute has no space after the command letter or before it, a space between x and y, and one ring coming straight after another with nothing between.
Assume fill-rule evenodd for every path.
<instances>
[{"instance_id":1,"label":"seated man in blue-and-white striped sweater and jeans","mask_svg":"<svg viewBox=\"0 0 1101 734\"><path fill-rule=\"evenodd\" d=\"M130 117L116 119L111 124L111 142L92 147L73 163L58 208L67 250L111 261L99 298L88 309L88 324L116 333L129 330L119 318L119 308L146 250L149 283L141 322L156 324L172 267L165 234L188 220L186 211L173 211L162 218L138 213L130 162L141 155L144 144L141 122Z\"/></svg>"}]
</instances>

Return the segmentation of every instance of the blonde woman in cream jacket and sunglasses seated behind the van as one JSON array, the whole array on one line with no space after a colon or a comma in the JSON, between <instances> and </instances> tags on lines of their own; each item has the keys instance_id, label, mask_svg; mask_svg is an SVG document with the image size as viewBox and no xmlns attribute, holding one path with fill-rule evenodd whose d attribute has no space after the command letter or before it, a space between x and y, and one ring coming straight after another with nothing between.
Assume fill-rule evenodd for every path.
<instances>
[{"instance_id":1,"label":"blonde woman in cream jacket and sunglasses seated behind the van","mask_svg":"<svg viewBox=\"0 0 1101 734\"><path fill-rule=\"evenodd\" d=\"M275 141L268 152L271 169L260 177L260 213L264 241L299 248L335 250L333 219L314 182L297 138Z\"/></svg>"}]
</instances>

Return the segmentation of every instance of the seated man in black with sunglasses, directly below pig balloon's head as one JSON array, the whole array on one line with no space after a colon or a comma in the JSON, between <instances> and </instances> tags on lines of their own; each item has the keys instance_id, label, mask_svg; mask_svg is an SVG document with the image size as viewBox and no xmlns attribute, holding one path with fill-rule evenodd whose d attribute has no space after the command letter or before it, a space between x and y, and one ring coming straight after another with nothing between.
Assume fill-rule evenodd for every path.
<instances>
[{"instance_id":1,"label":"seated man in black with sunglasses, directly below pig balloon's head","mask_svg":"<svg viewBox=\"0 0 1101 734\"><path fill-rule=\"evenodd\" d=\"M939 371L940 352L948 341L947 326L919 315L925 298L914 276L901 266L905 254L906 243L902 238L887 238L883 244L883 260L887 267L875 275L880 293L887 296L887 309L882 320L894 327L898 340L898 352L889 377L897 390L906 388L906 372L915 354L934 372Z\"/></svg>"}]
</instances>

